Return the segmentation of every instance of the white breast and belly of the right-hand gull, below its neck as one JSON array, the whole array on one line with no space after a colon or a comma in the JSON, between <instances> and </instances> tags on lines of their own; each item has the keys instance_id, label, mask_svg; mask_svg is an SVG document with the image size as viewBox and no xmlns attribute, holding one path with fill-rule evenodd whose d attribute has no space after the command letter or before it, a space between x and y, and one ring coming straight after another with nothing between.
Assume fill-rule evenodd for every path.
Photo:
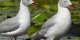
<instances>
[{"instance_id":1,"label":"white breast and belly of the right-hand gull, below its neck","mask_svg":"<svg viewBox=\"0 0 80 40\"><path fill-rule=\"evenodd\" d=\"M69 14L68 14L69 15ZM66 34L67 31L70 28L71 24L71 16L67 16L66 14L56 14L55 19L53 20L56 22L51 28L47 31L47 33L44 35L45 37L51 37L51 36L60 36L63 34Z\"/></svg>"}]
</instances>

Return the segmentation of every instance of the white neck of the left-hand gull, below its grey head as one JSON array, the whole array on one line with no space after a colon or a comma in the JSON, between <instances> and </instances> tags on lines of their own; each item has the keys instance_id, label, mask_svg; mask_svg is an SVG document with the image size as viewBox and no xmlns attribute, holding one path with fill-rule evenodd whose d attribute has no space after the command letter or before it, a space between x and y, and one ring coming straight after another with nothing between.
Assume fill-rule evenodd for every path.
<instances>
[{"instance_id":1,"label":"white neck of the left-hand gull, below its grey head","mask_svg":"<svg viewBox=\"0 0 80 40\"><path fill-rule=\"evenodd\" d=\"M30 17L30 12L27 6L23 5L22 0L20 2L20 9L18 14L16 15L18 17Z\"/></svg>"}]
</instances>

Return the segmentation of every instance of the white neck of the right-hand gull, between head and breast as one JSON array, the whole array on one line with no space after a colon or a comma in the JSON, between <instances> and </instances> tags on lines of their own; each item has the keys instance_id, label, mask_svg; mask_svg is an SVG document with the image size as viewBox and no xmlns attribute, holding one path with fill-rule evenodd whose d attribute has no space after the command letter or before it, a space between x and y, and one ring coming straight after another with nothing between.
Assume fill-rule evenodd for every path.
<instances>
[{"instance_id":1,"label":"white neck of the right-hand gull, between head and breast","mask_svg":"<svg viewBox=\"0 0 80 40\"><path fill-rule=\"evenodd\" d=\"M63 17L70 17L70 12L68 10L68 8L65 7L61 7L60 4L58 3L58 12L56 14L57 16L63 16Z\"/></svg>"}]
</instances>

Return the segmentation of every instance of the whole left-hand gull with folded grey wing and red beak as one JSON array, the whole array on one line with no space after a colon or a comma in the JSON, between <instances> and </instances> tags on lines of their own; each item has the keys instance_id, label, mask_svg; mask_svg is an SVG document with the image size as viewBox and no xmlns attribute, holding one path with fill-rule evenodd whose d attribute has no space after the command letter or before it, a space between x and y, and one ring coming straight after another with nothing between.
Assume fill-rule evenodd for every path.
<instances>
[{"instance_id":1,"label":"whole left-hand gull with folded grey wing and red beak","mask_svg":"<svg viewBox=\"0 0 80 40\"><path fill-rule=\"evenodd\" d=\"M36 4L32 0L21 0L18 14L0 23L0 35L16 37L26 34L30 27L30 12L28 5Z\"/></svg>"}]
</instances>

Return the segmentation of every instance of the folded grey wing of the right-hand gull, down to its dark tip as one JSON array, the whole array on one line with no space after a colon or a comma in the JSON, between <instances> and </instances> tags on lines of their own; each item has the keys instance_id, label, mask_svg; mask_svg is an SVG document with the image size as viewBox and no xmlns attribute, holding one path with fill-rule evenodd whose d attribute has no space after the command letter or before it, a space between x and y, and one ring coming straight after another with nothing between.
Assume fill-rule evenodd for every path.
<instances>
[{"instance_id":1,"label":"folded grey wing of the right-hand gull, down to its dark tip","mask_svg":"<svg viewBox=\"0 0 80 40\"><path fill-rule=\"evenodd\" d=\"M31 38L32 39L38 39L39 37L43 37L44 34L48 31L48 29L54 25L54 22L52 22L53 19L49 19L48 21L46 21L42 27L41 27L41 30L39 30L38 32L34 33Z\"/></svg>"}]
</instances>

